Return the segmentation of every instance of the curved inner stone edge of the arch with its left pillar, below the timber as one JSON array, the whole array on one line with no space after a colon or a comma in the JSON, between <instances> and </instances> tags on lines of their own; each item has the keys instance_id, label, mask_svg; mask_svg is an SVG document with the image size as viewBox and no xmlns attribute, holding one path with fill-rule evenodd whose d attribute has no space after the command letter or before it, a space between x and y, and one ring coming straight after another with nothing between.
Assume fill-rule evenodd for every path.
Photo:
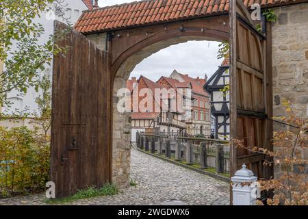
<instances>
[{"instance_id":1,"label":"curved inner stone edge of the arch with its left pillar, below the timber","mask_svg":"<svg viewBox=\"0 0 308 219\"><path fill-rule=\"evenodd\" d=\"M227 33L226 36L228 36ZM129 184L131 153L131 113L119 113L117 111L118 90L126 87L126 81L129 79L131 71L137 64L146 59L146 57L157 53L161 49L192 40L220 41L222 38L209 36L173 36L166 38L159 42L149 44L136 53L133 53L133 55L129 55L116 71L112 90L112 181L117 185L124 187Z\"/></svg>"}]
</instances>

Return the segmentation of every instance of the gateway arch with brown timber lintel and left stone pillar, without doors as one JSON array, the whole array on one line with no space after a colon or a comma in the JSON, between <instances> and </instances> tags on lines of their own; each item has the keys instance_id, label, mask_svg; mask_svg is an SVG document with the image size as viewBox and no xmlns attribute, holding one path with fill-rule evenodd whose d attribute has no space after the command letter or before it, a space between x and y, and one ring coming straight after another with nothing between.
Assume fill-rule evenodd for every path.
<instances>
[{"instance_id":1,"label":"gateway arch with brown timber lintel and left stone pillar, without doors","mask_svg":"<svg viewBox=\"0 0 308 219\"><path fill-rule=\"evenodd\" d=\"M110 140L112 182L120 187L129 184L130 113L116 111L116 92L125 88L135 66L153 53L174 44L190 40L229 40L229 17L226 15L196 18L187 21L158 23L129 29L91 34L87 38L97 48L106 51L107 73L110 74Z\"/></svg>"}]
</instances>

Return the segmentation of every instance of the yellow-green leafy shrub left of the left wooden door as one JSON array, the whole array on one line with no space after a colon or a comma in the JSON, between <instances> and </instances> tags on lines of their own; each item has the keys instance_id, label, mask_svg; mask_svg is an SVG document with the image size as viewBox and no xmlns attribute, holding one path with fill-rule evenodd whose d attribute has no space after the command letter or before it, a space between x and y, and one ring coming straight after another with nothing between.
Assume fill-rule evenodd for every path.
<instances>
[{"instance_id":1,"label":"yellow-green leafy shrub left of the left wooden door","mask_svg":"<svg viewBox=\"0 0 308 219\"><path fill-rule=\"evenodd\" d=\"M0 127L0 196L44 190L49 181L47 138L27 127Z\"/></svg>"}]
</instances>

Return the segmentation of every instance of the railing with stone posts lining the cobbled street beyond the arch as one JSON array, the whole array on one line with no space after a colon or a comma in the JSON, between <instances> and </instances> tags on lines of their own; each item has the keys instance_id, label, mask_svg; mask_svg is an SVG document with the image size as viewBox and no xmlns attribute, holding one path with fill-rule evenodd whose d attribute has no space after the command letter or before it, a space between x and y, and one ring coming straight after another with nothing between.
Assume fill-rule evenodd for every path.
<instances>
[{"instance_id":1,"label":"railing with stone posts lining the cobbled street beyond the arch","mask_svg":"<svg viewBox=\"0 0 308 219\"><path fill-rule=\"evenodd\" d=\"M229 143L227 140L183 134L136 133L139 149L224 175L230 172Z\"/></svg>"}]
</instances>

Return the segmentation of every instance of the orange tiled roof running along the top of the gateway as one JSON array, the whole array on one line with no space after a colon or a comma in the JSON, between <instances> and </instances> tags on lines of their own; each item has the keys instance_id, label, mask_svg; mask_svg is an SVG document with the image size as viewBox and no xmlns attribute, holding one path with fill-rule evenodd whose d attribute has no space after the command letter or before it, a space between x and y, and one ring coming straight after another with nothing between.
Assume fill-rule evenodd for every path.
<instances>
[{"instance_id":1,"label":"orange tiled roof running along the top of the gateway","mask_svg":"<svg viewBox=\"0 0 308 219\"><path fill-rule=\"evenodd\" d=\"M87 1L87 0L84 0ZM88 0L90 1L90 0ZM75 25L83 34L123 29L137 25L164 23L198 16L213 16L229 11L230 0L143 0L85 11ZM286 5L303 0L243 0L263 7Z\"/></svg>"}]
</instances>

